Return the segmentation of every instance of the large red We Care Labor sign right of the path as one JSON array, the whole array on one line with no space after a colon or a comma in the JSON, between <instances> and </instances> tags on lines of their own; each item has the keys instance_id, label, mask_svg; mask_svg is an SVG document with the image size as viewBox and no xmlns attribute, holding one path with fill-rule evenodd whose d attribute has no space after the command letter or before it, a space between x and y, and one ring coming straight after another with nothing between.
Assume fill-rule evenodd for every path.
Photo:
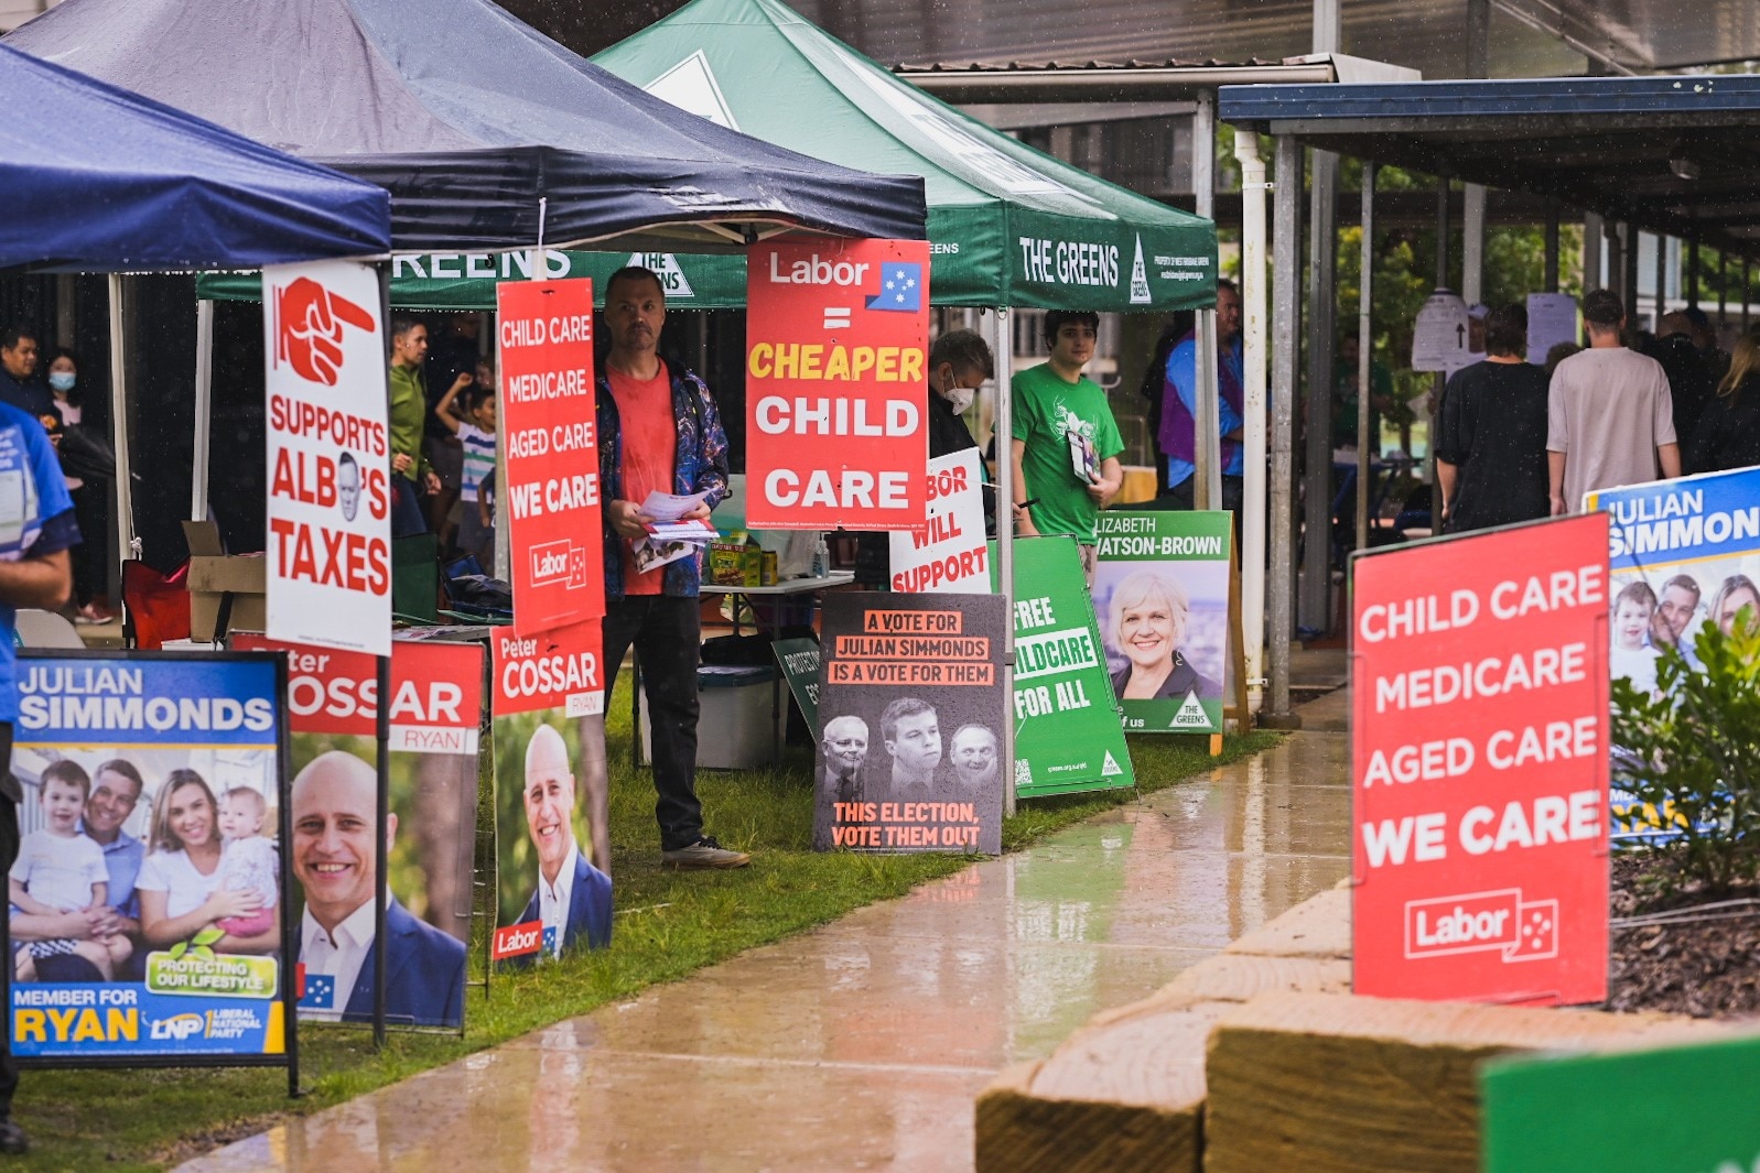
<instances>
[{"instance_id":1,"label":"large red We Care Labor sign right of the path","mask_svg":"<svg viewBox=\"0 0 1760 1173\"><path fill-rule=\"evenodd\" d=\"M1353 990L1603 1001L1607 517L1353 575Z\"/></svg>"}]
</instances>

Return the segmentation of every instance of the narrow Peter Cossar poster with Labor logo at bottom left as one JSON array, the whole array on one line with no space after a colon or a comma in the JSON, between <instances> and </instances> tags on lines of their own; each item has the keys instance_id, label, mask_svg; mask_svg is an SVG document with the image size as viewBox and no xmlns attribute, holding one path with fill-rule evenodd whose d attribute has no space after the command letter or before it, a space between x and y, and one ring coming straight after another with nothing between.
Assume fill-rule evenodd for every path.
<instances>
[{"instance_id":1,"label":"narrow Peter Cossar poster with Labor logo at bottom left","mask_svg":"<svg viewBox=\"0 0 1760 1173\"><path fill-rule=\"evenodd\" d=\"M495 652L493 960L530 964L611 943L611 777L597 621L537 637L505 628ZM544 923L546 886L568 916Z\"/></svg>"}]
</instances>

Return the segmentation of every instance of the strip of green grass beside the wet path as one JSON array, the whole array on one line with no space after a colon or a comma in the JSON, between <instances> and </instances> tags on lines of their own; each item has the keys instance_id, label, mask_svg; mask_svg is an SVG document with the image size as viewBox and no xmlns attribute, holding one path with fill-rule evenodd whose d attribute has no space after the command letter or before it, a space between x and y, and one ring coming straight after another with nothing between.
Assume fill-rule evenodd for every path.
<instances>
[{"instance_id":1,"label":"strip of green grass beside the wet path","mask_svg":"<svg viewBox=\"0 0 1760 1173\"><path fill-rule=\"evenodd\" d=\"M620 691L620 698L627 693ZM627 999L658 981L908 892L959 871L970 856L820 855L811 851L810 754L790 749L781 772L708 772L699 793L708 828L753 851L736 872L678 874L660 869L653 786L630 767L628 709L611 718L611 839L620 914L612 946L540 971L496 974L491 994L466 994L465 1038L392 1034L375 1053L371 1036L348 1027L304 1027L301 1075L308 1094L287 1099L276 1069L26 1071L14 1118L33 1152L7 1169L151 1169L216 1143L257 1133L278 1117L315 1111L459 1055L561 1018ZM1160 790L1213 765L1278 742L1276 733L1230 737L1221 758L1206 739L1132 739L1142 791ZM1132 798L1130 790L1021 804L1003 827L1014 851L1089 814ZM473 964L480 965L480 948Z\"/></svg>"}]
</instances>

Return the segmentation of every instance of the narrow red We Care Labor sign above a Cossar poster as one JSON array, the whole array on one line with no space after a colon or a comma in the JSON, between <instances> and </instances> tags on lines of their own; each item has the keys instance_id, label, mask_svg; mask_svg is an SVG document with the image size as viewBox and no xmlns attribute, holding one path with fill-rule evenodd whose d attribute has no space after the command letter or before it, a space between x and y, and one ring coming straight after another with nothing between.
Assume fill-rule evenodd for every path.
<instances>
[{"instance_id":1,"label":"narrow red We Care Labor sign above a Cossar poster","mask_svg":"<svg viewBox=\"0 0 1760 1173\"><path fill-rule=\"evenodd\" d=\"M514 631L605 614L593 281L495 287Z\"/></svg>"}]
</instances>

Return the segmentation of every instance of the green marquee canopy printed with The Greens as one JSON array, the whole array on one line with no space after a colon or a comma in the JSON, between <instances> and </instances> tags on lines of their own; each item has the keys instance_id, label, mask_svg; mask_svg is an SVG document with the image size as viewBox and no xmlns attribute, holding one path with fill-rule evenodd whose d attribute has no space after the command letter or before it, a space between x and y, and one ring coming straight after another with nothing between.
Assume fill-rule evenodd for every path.
<instances>
[{"instance_id":1,"label":"green marquee canopy printed with The Greens","mask_svg":"<svg viewBox=\"0 0 1760 1173\"><path fill-rule=\"evenodd\" d=\"M1216 297L1216 225L991 130L868 60L781 0L695 0L593 58L693 114L832 164L924 176L938 306L1167 311ZM679 310L739 308L743 257L549 253L547 276L648 264ZM528 255L400 257L391 299L489 310ZM204 297L255 297L209 278Z\"/></svg>"}]
</instances>

